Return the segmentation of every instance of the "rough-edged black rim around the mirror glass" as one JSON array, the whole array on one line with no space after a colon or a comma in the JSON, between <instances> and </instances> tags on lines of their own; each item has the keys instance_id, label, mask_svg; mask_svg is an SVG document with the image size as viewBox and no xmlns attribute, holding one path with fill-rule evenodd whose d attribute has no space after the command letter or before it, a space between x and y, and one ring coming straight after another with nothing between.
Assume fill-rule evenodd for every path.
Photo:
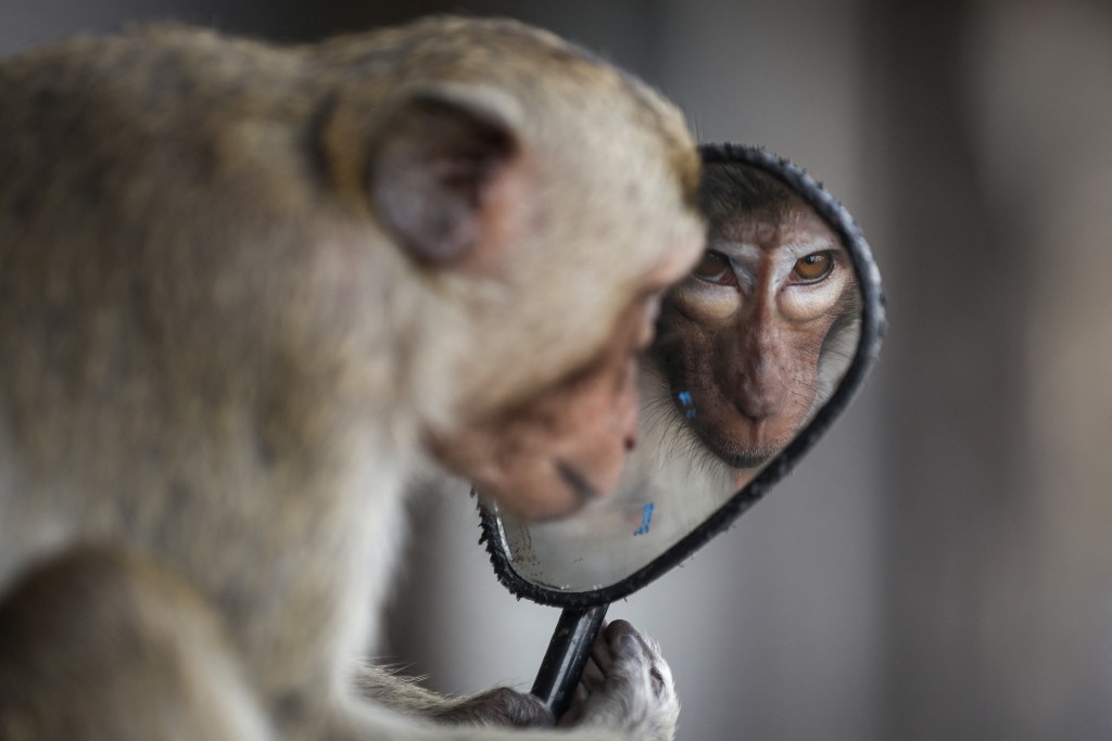
<instances>
[{"instance_id":1,"label":"rough-edged black rim around the mirror glass","mask_svg":"<svg viewBox=\"0 0 1112 741\"><path fill-rule=\"evenodd\" d=\"M490 563L498 581L518 599L525 598L539 604L585 609L624 599L642 589L667 571L679 565L715 535L727 530L737 518L758 502L768 490L786 477L800 459L825 434L834 420L861 390L868 371L880 354L885 330L885 299L881 273L873 261L868 243L853 217L821 183L788 160L758 147L744 144L703 144L699 147L705 164L734 162L759 168L787 183L807 204L834 228L842 239L861 287L861 339L857 351L841 383L818 413L757 477L737 491L725 504L695 530L673 544L622 581L588 592L562 592L535 584L519 577L510 567L503 547L497 518L480 505L483 535Z\"/></svg>"}]
</instances>

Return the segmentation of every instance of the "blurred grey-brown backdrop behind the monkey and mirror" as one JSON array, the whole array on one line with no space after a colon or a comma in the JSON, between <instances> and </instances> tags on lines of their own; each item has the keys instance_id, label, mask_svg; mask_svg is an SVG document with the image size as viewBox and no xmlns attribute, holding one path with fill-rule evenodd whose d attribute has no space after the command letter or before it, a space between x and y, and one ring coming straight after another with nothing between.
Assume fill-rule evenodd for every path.
<instances>
[{"instance_id":1,"label":"blurred grey-brown backdrop behind the monkey and mirror","mask_svg":"<svg viewBox=\"0 0 1112 741\"><path fill-rule=\"evenodd\" d=\"M550 28L702 140L792 158L885 278L850 412L610 609L662 643L681 739L1112 738L1112 6L0 0L0 53L132 20L304 40L446 10ZM496 583L465 491L436 494L377 653L441 691L527 689L557 612Z\"/></svg>"}]
</instances>

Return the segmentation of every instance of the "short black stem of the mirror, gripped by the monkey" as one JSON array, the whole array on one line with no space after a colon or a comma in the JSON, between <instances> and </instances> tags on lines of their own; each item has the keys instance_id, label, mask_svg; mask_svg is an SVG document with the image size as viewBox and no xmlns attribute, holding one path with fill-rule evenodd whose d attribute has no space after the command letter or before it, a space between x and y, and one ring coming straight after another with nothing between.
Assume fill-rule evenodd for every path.
<instances>
[{"instance_id":1,"label":"short black stem of the mirror, gripped by the monkey","mask_svg":"<svg viewBox=\"0 0 1112 741\"><path fill-rule=\"evenodd\" d=\"M534 695L548 705L556 720L572 704L575 685L590 657L590 649L603 627L608 607L610 605L598 604L582 610L565 608L559 615L532 690Z\"/></svg>"}]
</instances>

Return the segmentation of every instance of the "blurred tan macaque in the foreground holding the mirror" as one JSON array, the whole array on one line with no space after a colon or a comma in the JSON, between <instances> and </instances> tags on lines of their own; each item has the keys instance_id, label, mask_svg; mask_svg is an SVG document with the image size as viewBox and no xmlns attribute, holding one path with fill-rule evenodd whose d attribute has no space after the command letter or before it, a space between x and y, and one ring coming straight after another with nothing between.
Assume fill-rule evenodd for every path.
<instances>
[{"instance_id":1,"label":"blurred tan macaque in the foreground holding the mirror","mask_svg":"<svg viewBox=\"0 0 1112 741\"><path fill-rule=\"evenodd\" d=\"M0 63L0 738L543 715L360 657L413 472L526 520L614 487L704 247L675 108L512 21L158 27ZM618 622L596 657L560 738L672 738L655 647Z\"/></svg>"}]
</instances>

